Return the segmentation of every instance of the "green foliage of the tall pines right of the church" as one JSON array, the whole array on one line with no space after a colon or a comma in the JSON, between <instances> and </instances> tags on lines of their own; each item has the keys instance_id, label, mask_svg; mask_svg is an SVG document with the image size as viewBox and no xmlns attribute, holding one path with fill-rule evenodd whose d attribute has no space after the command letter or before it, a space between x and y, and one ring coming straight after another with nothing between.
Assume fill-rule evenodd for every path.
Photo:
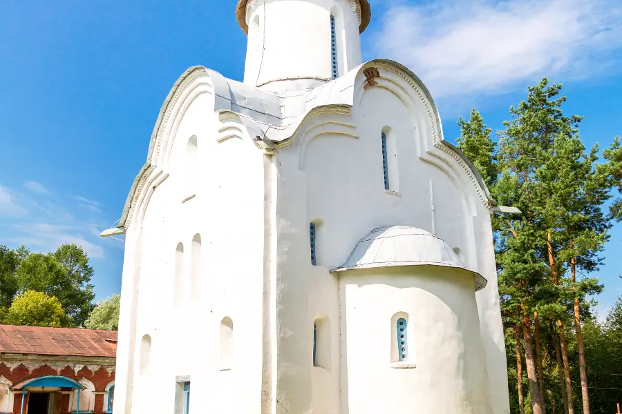
<instances>
[{"instance_id":1,"label":"green foliage of the tall pines right of the church","mask_svg":"<svg viewBox=\"0 0 622 414\"><path fill-rule=\"evenodd\" d=\"M612 308L605 325L591 316L596 303L591 297L603 290L592 275L599 270L611 220L622 219L622 199L614 202L608 214L603 212L612 188L622 193L622 143L616 137L603 151L605 163L599 162L599 147L585 148L578 135L582 118L564 114L566 98L560 95L561 90L561 84L549 83L546 78L530 86L527 99L510 108L511 120L497 132L498 145L474 108L469 121L458 121L462 132L458 148L480 170L493 199L522 211L522 215L496 215L492 219L512 413L518 413L514 326L522 315L539 314L548 412L553 404L558 413L564 411L554 347L557 321L566 327L574 409L575 413L582 412L578 338L572 328L575 299L579 299L579 313L586 321L588 384L600 381L592 381L590 370L596 370L594 367L611 371L605 368L607 353L622 355L622 330L616 331L622 329L622 302ZM533 330L533 320L529 323ZM536 378L532 372L530 383L525 367L522 373L525 413L531 413L530 392L537 392ZM590 404L592 414L611 411L611 399L607 406L603 395L591 390L590 394L595 395Z\"/></svg>"}]
</instances>

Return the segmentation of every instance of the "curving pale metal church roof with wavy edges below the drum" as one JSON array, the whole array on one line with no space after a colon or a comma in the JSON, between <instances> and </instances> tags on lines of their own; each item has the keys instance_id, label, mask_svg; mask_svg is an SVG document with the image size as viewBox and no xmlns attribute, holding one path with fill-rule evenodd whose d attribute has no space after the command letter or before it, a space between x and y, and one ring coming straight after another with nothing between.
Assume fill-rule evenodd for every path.
<instances>
[{"instance_id":1,"label":"curving pale metal church roof with wavy edges below the drum","mask_svg":"<svg viewBox=\"0 0 622 414\"><path fill-rule=\"evenodd\" d=\"M397 61L373 59L372 61L362 63L352 68L345 75L308 90L304 96L303 105L296 106L297 110L294 109L290 113L288 113L288 110L290 110L288 109L290 108L288 106L288 98L291 95L288 97L288 93L270 92L256 86L248 86L240 81L228 79L220 72L205 66L191 66L174 83L169 95L162 103L156 126L151 134L147 161L133 182L119 223L115 228L104 230L102 237L125 233L135 193L142 188L141 183L144 181L144 177L148 177L155 168L153 166L153 151L156 148L156 141L160 137L160 129L163 124L166 124L167 118L170 115L169 112L172 110L171 103L174 105L181 91L191 80L200 76L200 72L207 74L214 87L215 112L231 112L239 115L251 137L259 137L262 140L267 139L277 146L285 146L296 135L304 121L315 112L322 110L330 111L330 108L349 110L354 105L354 89L357 76L364 72L366 68L381 68L395 72L395 74L402 77L415 89L415 93L421 99L424 99L428 112L427 115L434 130L433 139L435 146L458 161L462 170L475 185L475 190L484 204L487 204L489 208L496 206L477 168L473 166L473 163L458 148L444 139L440 114L428 88L413 71ZM288 92L291 93L292 91Z\"/></svg>"}]
</instances>

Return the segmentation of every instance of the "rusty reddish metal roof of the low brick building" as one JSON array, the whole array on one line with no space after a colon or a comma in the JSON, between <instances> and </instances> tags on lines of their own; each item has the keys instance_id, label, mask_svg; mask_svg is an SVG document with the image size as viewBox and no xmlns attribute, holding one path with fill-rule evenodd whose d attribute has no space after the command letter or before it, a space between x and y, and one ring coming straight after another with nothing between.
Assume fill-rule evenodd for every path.
<instances>
[{"instance_id":1,"label":"rusty reddish metal roof of the low brick building","mask_svg":"<svg viewBox=\"0 0 622 414\"><path fill-rule=\"evenodd\" d=\"M0 325L0 354L115 357L116 352L115 331Z\"/></svg>"}]
</instances>

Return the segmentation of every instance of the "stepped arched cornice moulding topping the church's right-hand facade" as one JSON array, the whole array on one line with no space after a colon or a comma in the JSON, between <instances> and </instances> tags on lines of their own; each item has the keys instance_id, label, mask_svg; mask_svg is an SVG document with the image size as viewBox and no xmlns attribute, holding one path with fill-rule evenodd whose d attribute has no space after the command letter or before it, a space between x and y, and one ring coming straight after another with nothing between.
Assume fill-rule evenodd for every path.
<instances>
[{"instance_id":1,"label":"stepped arched cornice moulding topping the church's right-hand facade","mask_svg":"<svg viewBox=\"0 0 622 414\"><path fill-rule=\"evenodd\" d=\"M299 117L299 122L281 130L268 131L267 137L278 143L277 148L299 139L300 168L303 169L305 147L314 137L326 133L357 137L350 121L350 108L361 101L369 88L388 90L404 103L413 115L413 121L426 126L424 137L429 136L432 140L428 146L428 142L419 139L419 155L423 161L440 167L452 181L464 177L482 203L486 206L493 204L486 184L471 161L445 141L437 106L426 86L411 70L395 61L376 59L364 63L343 77L314 89L308 97L312 109ZM339 117L341 119L337 119ZM346 126L345 131L343 126Z\"/></svg>"}]
</instances>

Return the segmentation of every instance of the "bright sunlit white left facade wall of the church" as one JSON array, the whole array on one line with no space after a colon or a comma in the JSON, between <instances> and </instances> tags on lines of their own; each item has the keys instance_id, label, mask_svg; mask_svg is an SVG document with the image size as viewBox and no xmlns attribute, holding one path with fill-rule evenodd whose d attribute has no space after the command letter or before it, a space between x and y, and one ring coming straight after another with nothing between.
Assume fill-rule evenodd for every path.
<instances>
[{"instance_id":1,"label":"bright sunlit white left facade wall of the church","mask_svg":"<svg viewBox=\"0 0 622 414\"><path fill-rule=\"evenodd\" d=\"M175 380L183 375L191 377L191 411L259 413L263 155L243 132L217 141L222 125L205 76L185 88L167 122L153 152L155 178L144 186L126 235L114 411L173 412ZM188 162L193 136L196 168ZM196 235L200 266L191 263ZM182 300L174 304L180 242ZM200 271L194 282L193 268ZM223 317L234 326L228 371L219 364ZM141 371L144 335L151 337L151 350Z\"/></svg>"}]
</instances>

